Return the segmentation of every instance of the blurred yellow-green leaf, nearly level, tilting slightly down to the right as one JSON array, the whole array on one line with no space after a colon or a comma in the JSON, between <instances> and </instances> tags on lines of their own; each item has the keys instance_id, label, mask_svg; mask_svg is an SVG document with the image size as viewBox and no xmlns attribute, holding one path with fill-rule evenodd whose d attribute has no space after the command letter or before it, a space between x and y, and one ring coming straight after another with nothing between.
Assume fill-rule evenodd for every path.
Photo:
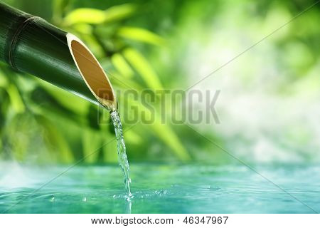
<instances>
[{"instance_id":1,"label":"blurred yellow-green leaf, nearly level, tilting slightly down to the right","mask_svg":"<svg viewBox=\"0 0 320 228\"><path fill-rule=\"evenodd\" d=\"M148 31L144 28L122 27L117 31L117 35L132 39L134 41L151 43L158 46L164 46L166 43L164 38L161 38L161 36L158 36L156 33Z\"/></svg>"}]
</instances>

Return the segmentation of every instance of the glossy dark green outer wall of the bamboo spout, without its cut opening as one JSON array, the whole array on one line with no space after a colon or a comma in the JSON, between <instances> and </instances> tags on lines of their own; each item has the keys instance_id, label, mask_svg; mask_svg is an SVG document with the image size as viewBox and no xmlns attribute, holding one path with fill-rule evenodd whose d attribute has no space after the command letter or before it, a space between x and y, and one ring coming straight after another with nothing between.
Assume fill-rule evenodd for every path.
<instances>
[{"instance_id":1,"label":"glossy dark green outer wall of the bamboo spout, without its cut opening","mask_svg":"<svg viewBox=\"0 0 320 228\"><path fill-rule=\"evenodd\" d=\"M75 66L66 34L0 2L0 60L98 104Z\"/></svg>"}]
</instances>

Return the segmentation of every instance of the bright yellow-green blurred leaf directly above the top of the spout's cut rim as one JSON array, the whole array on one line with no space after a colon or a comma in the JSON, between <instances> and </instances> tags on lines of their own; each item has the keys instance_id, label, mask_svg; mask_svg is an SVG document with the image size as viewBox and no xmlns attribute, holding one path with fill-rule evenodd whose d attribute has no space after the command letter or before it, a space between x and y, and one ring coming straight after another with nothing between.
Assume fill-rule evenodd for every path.
<instances>
[{"instance_id":1,"label":"bright yellow-green blurred leaf directly above the top of the spout's cut rim","mask_svg":"<svg viewBox=\"0 0 320 228\"><path fill-rule=\"evenodd\" d=\"M70 26L77 23L101 24L106 19L105 11L100 9L79 8L65 16L64 24Z\"/></svg>"}]
</instances>

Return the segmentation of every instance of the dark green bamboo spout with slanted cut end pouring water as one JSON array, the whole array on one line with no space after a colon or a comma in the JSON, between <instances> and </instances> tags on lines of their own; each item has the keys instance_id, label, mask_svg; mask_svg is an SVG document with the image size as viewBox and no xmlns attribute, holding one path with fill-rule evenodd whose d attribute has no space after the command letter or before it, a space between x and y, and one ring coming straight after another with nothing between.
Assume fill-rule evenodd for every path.
<instances>
[{"instance_id":1,"label":"dark green bamboo spout with slanted cut end pouring water","mask_svg":"<svg viewBox=\"0 0 320 228\"><path fill-rule=\"evenodd\" d=\"M79 38L2 2L0 61L108 110L117 109L105 71Z\"/></svg>"}]
</instances>

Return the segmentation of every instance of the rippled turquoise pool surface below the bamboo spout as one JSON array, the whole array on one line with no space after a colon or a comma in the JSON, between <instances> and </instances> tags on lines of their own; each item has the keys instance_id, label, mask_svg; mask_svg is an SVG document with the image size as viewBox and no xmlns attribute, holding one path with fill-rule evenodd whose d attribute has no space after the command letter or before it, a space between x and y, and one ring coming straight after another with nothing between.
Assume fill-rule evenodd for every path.
<instances>
[{"instance_id":1,"label":"rippled turquoise pool surface below the bamboo spout","mask_svg":"<svg viewBox=\"0 0 320 228\"><path fill-rule=\"evenodd\" d=\"M134 197L128 200L117 165L75 166L66 171L68 167L2 164L0 213L320 211L320 166L254 168L283 190L245 166L133 163Z\"/></svg>"}]
</instances>

